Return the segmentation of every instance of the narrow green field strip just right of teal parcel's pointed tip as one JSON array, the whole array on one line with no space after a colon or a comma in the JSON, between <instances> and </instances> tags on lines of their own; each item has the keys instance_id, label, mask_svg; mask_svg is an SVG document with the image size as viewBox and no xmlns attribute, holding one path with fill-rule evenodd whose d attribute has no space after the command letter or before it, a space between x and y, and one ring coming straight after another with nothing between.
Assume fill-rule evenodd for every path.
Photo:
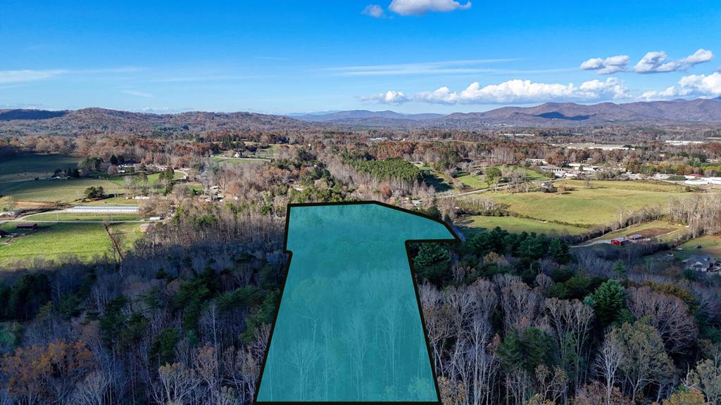
<instances>
[{"instance_id":1,"label":"narrow green field strip just right of teal parcel's pointed tip","mask_svg":"<svg viewBox=\"0 0 721 405\"><path fill-rule=\"evenodd\" d=\"M490 231L496 226L510 233L536 232L546 233L547 235L580 235L587 232L586 228L578 228L576 226L559 225L557 223L534 221L526 218L516 217L490 217L483 215L473 215L461 218L458 224L473 233L474 231Z\"/></svg>"}]
</instances>

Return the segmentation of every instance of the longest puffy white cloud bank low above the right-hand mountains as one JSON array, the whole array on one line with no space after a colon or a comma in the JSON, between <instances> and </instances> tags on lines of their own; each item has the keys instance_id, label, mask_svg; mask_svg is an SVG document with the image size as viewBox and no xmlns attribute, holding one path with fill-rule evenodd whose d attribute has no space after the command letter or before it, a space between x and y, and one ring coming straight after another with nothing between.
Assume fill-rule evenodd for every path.
<instances>
[{"instance_id":1,"label":"longest puffy white cloud bank low above the right-hand mountains","mask_svg":"<svg viewBox=\"0 0 721 405\"><path fill-rule=\"evenodd\" d=\"M547 84L516 79L488 86L475 82L461 92L452 92L443 86L433 92L420 92L412 96L407 96L404 92L389 91L361 97L361 100L386 104L411 101L433 104L524 104L551 101L589 102L627 97L626 87L616 78L585 81L580 86L572 83Z\"/></svg>"}]
</instances>

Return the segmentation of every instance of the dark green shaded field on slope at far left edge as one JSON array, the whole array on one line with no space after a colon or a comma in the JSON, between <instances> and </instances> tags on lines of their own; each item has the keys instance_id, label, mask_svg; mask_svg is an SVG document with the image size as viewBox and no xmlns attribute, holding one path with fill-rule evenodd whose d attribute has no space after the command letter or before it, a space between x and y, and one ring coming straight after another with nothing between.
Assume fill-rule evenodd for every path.
<instances>
[{"instance_id":1,"label":"dark green shaded field on slope at far left edge","mask_svg":"<svg viewBox=\"0 0 721 405\"><path fill-rule=\"evenodd\" d=\"M79 158L67 155L25 155L0 161L0 193L18 182L50 177L55 169L76 168Z\"/></svg>"}]
</instances>

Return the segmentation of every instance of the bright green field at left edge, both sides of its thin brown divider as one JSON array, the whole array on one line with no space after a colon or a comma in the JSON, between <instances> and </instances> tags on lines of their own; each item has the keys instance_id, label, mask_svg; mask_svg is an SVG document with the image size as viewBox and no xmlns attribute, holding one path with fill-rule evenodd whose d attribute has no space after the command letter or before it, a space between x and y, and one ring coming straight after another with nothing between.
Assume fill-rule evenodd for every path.
<instances>
[{"instance_id":1,"label":"bright green field at left edge, both sides of its thin brown divider","mask_svg":"<svg viewBox=\"0 0 721 405\"><path fill-rule=\"evenodd\" d=\"M81 260L113 254L113 246L102 223L52 223L40 224L35 231L17 231L17 223L2 223L0 229L20 236L0 239L0 265L37 258L61 259L76 255ZM110 232L118 235L122 249L133 246L142 233L139 223L115 223Z\"/></svg>"}]
</instances>

